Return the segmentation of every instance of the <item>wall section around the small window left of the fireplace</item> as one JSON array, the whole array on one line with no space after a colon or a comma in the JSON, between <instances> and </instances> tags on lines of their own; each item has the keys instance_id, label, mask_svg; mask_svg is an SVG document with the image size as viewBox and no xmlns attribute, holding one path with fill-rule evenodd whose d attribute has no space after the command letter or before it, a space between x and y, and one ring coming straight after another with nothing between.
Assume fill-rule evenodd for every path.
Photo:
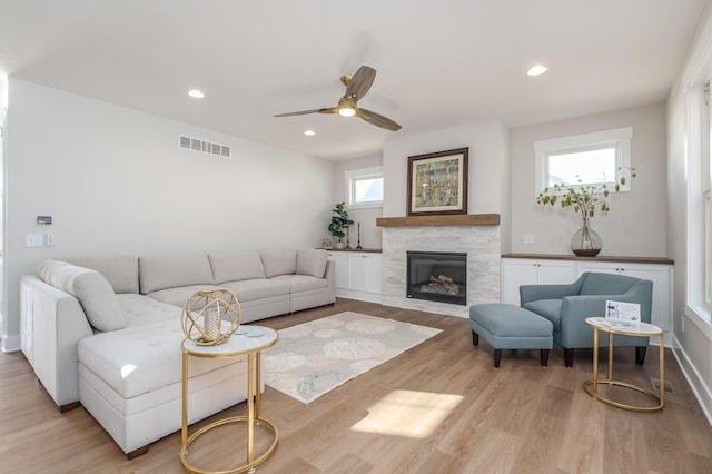
<instances>
[{"instance_id":1,"label":"wall section around the small window left of the fireplace","mask_svg":"<svg viewBox=\"0 0 712 474\"><path fill-rule=\"evenodd\" d=\"M383 166L383 156L374 155L354 158L334 164L334 204L346 201L346 171ZM384 180L384 187L390 184ZM380 227L376 227L376 219L383 217L383 207L347 209L348 217L354 221L349 230L352 248L358 245L358 223L360 223L360 246L364 248L382 248L383 236ZM328 237L328 220L324 224L324 237Z\"/></svg>"}]
</instances>

